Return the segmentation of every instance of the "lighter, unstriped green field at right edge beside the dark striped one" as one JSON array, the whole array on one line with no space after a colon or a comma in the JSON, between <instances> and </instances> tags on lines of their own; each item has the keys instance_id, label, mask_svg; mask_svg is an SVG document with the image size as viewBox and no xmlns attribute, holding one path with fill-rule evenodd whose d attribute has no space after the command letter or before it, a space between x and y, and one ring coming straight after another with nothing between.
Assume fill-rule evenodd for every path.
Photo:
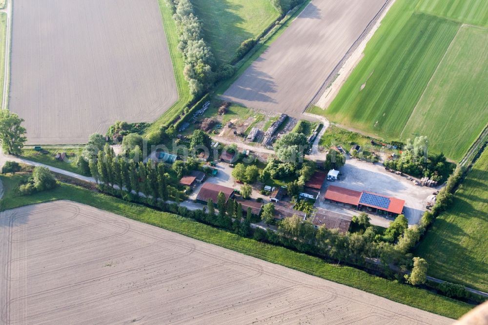
<instances>
[{"instance_id":1,"label":"lighter, unstriped green field at right edge beside the dark striped one","mask_svg":"<svg viewBox=\"0 0 488 325\"><path fill-rule=\"evenodd\" d=\"M487 76L488 30L465 25L432 76L401 137L425 135L432 147L461 160L487 123Z\"/></svg>"}]
</instances>

